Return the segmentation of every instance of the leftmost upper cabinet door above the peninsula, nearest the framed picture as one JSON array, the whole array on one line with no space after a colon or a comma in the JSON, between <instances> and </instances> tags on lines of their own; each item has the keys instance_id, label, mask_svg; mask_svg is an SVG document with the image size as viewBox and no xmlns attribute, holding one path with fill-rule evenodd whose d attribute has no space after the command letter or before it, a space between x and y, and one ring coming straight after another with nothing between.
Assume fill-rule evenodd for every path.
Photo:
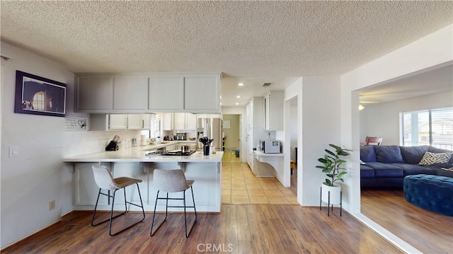
<instances>
[{"instance_id":1,"label":"leftmost upper cabinet door above the peninsula, nearest the framed picture","mask_svg":"<svg viewBox=\"0 0 453 254\"><path fill-rule=\"evenodd\" d=\"M108 112L113 106L113 76L79 75L75 80L75 112Z\"/></svg>"}]
</instances>

